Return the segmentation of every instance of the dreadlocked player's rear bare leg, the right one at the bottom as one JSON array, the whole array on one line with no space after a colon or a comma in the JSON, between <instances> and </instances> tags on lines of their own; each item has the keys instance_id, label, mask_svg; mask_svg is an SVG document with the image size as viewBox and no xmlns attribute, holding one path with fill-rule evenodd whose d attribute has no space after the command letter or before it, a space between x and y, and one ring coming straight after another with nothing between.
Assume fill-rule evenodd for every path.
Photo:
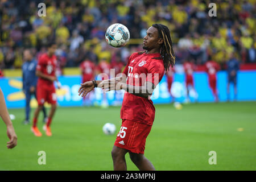
<instances>
[{"instance_id":1,"label":"dreadlocked player's rear bare leg, the right one at the bottom","mask_svg":"<svg viewBox=\"0 0 256 182\"><path fill-rule=\"evenodd\" d=\"M155 167L153 164L148 160L144 154L135 154L129 153L131 161L139 168L141 171L155 171Z\"/></svg>"}]
</instances>

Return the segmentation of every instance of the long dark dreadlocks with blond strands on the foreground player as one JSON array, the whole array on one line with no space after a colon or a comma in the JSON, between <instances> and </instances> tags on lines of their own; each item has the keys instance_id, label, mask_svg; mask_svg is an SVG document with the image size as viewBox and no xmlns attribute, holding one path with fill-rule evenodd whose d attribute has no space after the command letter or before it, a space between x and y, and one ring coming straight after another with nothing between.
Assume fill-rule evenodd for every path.
<instances>
[{"instance_id":1,"label":"long dark dreadlocks with blond strands on the foreground player","mask_svg":"<svg viewBox=\"0 0 256 182\"><path fill-rule=\"evenodd\" d=\"M174 49L172 49L172 39L171 33L167 26L163 24L152 24L152 27L155 27L158 30L159 38L163 39L163 44L160 47L160 55L161 57L155 59L163 59L164 69L168 71L170 65L172 67L175 64L175 55Z\"/></svg>"}]
</instances>

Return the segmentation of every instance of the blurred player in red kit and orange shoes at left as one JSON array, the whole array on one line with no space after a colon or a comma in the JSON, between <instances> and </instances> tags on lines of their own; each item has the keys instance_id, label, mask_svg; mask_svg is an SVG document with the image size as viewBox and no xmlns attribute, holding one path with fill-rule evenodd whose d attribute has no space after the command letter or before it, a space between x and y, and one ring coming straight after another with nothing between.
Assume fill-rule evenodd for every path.
<instances>
[{"instance_id":1,"label":"blurred player in red kit and orange shoes at left","mask_svg":"<svg viewBox=\"0 0 256 182\"><path fill-rule=\"evenodd\" d=\"M51 104L51 110L49 112L46 125L44 126L44 130L46 130L47 136L52 135L50 125L57 104L57 96L53 85L53 81L57 81L57 77L55 75L57 59L54 55L56 48L55 43L48 43L47 53L44 53L39 57L38 65L36 66L36 76L38 76L38 84L36 85L38 107L35 110L33 126L31 127L31 131L36 137L42 136L42 133L40 133L36 123L44 102ZM60 88L59 85L58 88Z\"/></svg>"}]
</instances>

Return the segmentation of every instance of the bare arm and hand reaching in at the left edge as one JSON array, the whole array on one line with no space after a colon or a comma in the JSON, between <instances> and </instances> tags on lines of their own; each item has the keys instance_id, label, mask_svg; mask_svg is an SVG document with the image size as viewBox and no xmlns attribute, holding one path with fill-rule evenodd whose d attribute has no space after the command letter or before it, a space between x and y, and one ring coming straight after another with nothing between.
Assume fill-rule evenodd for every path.
<instances>
[{"instance_id":1,"label":"bare arm and hand reaching in at the left edge","mask_svg":"<svg viewBox=\"0 0 256 182\"><path fill-rule=\"evenodd\" d=\"M10 141L7 142L7 148L13 148L17 145L17 135L15 133L13 123L11 122L9 112L5 104L5 97L3 97L3 92L1 88L0 88L0 106L1 106L0 117L3 119L3 122L5 122L5 125L7 127L7 137L10 139Z\"/></svg>"}]
</instances>

